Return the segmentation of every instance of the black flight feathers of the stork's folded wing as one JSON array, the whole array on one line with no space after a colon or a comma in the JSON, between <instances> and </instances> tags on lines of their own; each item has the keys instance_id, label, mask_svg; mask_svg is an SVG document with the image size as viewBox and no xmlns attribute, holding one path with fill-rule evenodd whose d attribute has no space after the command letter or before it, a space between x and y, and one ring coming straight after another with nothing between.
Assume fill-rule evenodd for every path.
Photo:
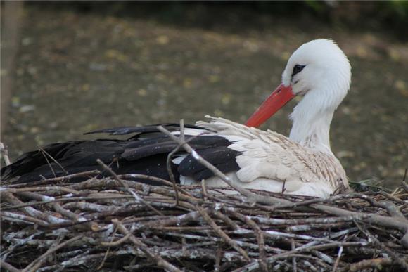
<instances>
[{"instance_id":1,"label":"black flight feathers of the stork's folded wing","mask_svg":"<svg viewBox=\"0 0 408 272\"><path fill-rule=\"evenodd\" d=\"M179 124L160 124L171 131L179 130ZM47 145L42 150L25 153L13 164L1 169L3 181L30 182L49 179L66 174L98 169L99 177L109 176L96 162L102 160L117 174L146 174L169 179L167 155L177 147L177 143L157 129L158 124L146 127L117 127L101 129L89 133L108 133L113 135L135 134L127 140L98 139L92 141L70 141ZM193 125L186 128L200 129ZM203 129L203 132L206 132ZM221 171L236 171L235 157L241 153L228 148L231 142L215 135L185 136L198 154L214 164ZM180 150L178 155L184 153ZM56 162L58 163L56 163ZM172 171L179 175L190 176L200 181L213 176L212 172L187 155L179 165L172 164ZM84 178L77 179L82 181ZM142 182L156 184L148 180Z\"/></svg>"}]
</instances>

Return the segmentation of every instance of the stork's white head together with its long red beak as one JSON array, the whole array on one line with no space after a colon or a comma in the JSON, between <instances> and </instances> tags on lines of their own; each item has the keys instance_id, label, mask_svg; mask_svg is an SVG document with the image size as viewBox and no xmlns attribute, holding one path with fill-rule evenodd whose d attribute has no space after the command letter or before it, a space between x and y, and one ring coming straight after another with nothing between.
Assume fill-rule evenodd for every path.
<instances>
[{"instance_id":1,"label":"stork's white head together with its long red beak","mask_svg":"<svg viewBox=\"0 0 408 272\"><path fill-rule=\"evenodd\" d=\"M246 125L260 126L295 96L314 93L328 107L337 108L347 94L350 81L348 58L333 41L309 41L293 52L283 71L282 84L262 103Z\"/></svg>"}]
</instances>

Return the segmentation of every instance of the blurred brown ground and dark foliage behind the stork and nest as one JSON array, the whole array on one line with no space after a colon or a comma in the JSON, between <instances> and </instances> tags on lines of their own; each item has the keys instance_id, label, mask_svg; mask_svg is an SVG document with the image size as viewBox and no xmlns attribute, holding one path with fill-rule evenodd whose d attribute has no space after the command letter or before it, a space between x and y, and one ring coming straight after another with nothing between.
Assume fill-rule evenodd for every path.
<instances>
[{"instance_id":1,"label":"blurred brown ground and dark foliage behind the stork and nest","mask_svg":"<svg viewBox=\"0 0 408 272\"><path fill-rule=\"evenodd\" d=\"M334 39L352 86L331 127L351 181L408 167L408 1L1 1L1 141L12 160L86 131L245 122L291 53ZM263 129L288 134L291 102Z\"/></svg>"}]
</instances>

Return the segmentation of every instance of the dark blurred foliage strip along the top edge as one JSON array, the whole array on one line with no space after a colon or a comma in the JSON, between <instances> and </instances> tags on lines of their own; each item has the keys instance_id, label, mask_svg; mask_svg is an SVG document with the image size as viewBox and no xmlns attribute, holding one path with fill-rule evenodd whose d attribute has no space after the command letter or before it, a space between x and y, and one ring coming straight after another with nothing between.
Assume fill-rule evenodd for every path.
<instances>
[{"instance_id":1,"label":"dark blurred foliage strip along the top edge","mask_svg":"<svg viewBox=\"0 0 408 272\"><path fill-rule=\"evenodd\" d=\"M66 8L104 15L150 17L177 25L211 28L235 20L240 26L255 24L260 15L310 17L333 25L385 28L406 38L408 1L27 1L43 8ZM44 5L46 4L46 5ZM255 14L254 14L255 13ZM242 22L245 22L243 24Z\"/></svg>"}]
</instances>

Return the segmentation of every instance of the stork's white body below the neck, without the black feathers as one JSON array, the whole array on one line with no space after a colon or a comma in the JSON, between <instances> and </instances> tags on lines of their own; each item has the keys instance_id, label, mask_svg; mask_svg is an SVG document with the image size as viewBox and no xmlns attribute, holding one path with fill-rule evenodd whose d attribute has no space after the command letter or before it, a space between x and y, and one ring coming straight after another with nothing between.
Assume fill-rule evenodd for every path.
<instances>
[{"instance_id":1,"label":"stork's white body below the neck, without the black feathers","mask_svg":"<svg viewBox=\"0 0 408 272\"><path fill-rule=\"evenodd\" d=\"M236 156L239 169L229 174L238 186L319 197L348 188L345 171L331 151L303 146L274 131L222 118L197 125L217 131L232 142L228 148L240 152ZM218 186L222 181L212 177L206 183Z\"/></svg>"}]
</instances>

